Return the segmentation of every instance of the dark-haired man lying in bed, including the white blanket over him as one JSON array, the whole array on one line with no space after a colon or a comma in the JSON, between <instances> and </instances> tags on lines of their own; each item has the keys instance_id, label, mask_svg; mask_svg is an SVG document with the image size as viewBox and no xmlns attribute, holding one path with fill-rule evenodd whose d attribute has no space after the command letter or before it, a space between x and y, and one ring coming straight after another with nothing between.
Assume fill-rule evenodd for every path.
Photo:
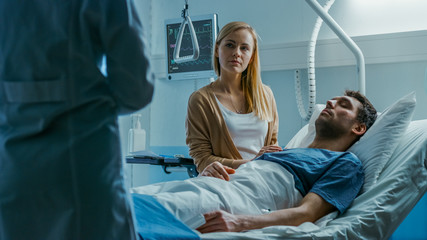
<instances>
[{"instance_id":1,"label":"dark-haired man lying in bed, including the white blanket over him","mask_svg":"<svg viewBox=\"0 0 427 240\"><path fill-rule=\"evenodd\" d=\"M235 173L212 163L200 177L133 192L153 195L202 233L315 222L335 210L345 211L360 191L362 164L345 151L375 119L376 110L363 95L346 91L327 102L308 148L265 153Z\"/></svg>"}]
</instances>

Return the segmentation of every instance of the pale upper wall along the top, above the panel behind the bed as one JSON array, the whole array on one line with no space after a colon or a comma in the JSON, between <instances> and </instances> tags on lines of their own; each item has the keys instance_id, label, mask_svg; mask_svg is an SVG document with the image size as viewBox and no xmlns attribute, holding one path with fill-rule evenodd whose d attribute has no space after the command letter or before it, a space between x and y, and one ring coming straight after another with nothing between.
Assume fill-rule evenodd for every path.
<instances>
[{"instance_id":1,"label":"pale upper wall along the top, above the panel behind the bed","mask_svg":"<svg viewBox=\"0 0 427 240\"><path fill-rule=\"evenodd\" d=\"M164 20L180 18L184 0L136 0L143 17L151 15L152 54L164 54ZM319 1L323 3L325 1ZM427 1L337 0L330 13L350 36L427 29ZM150 11L151 12L148 12ZM148 12L148 13L147 13ZM302 0L197 0L189 1L191 15L217 13L219 26L245 21L260 35L261 44L307 41L316 15ZM326 27L319 39L335 38Z\"/></svg>"}]
</instances>

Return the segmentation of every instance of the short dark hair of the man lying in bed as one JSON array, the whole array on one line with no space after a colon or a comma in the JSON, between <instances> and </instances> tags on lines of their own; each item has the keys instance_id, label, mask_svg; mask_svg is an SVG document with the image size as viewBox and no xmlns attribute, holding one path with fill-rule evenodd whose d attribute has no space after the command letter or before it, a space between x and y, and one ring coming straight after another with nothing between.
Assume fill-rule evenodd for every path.
<instances>
[{"instance_id":1,"label":"short dark hair of the man lying in bed","mask_svg":"<svg viewBox=\"0 0 427 240\"><path fill-rule=\"evenodd\" d=\"M368 130L377 119L377 110L374 108L371 102L359 91L346 90L344 95L348 97L353 97L362 104L362 107L359 108L359 111L357 113L357 120L360 123L364 123L366 125L366 130Z\"/></svg>"}]
</instances>

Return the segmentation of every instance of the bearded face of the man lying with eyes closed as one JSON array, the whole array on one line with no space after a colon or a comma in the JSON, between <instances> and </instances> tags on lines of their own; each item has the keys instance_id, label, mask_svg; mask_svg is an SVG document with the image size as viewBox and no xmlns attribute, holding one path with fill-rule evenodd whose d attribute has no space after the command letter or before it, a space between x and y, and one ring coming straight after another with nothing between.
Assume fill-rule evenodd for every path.
<instances>
[{"instance_id":1,"label":"bearded face of the man lying with eyes closed","mask_svg":"<svg viewBox=\"0 0 427 240\"><path fill-rule=\"evenodd\" d=\"M357 113L362 105L348 96L334 97L316 120L316 132L323 137L338 137L348 134L357 126Z\"/></svg>"}]
</instances>

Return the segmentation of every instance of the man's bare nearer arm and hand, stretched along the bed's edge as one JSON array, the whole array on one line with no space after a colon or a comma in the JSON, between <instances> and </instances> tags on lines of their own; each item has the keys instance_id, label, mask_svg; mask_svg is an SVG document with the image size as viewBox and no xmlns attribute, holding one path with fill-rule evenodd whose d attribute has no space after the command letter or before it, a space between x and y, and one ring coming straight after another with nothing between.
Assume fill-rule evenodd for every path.
<instances>
[{"instance_id":1,"label":"man's bare nearer arm and hand, stretched along the bed's edge","mask_svg":"<svg viewBox=\"0 0 427 240\"><path fill-rule=\"evenodd\" d=\"M205 214L206 223L197 230L208 232L241 232L276 225L298 226L315 222L336 208L315 193L308 193L301 204L263 215L233 215L225 211Z\"/></svg>"}]
</instances>

